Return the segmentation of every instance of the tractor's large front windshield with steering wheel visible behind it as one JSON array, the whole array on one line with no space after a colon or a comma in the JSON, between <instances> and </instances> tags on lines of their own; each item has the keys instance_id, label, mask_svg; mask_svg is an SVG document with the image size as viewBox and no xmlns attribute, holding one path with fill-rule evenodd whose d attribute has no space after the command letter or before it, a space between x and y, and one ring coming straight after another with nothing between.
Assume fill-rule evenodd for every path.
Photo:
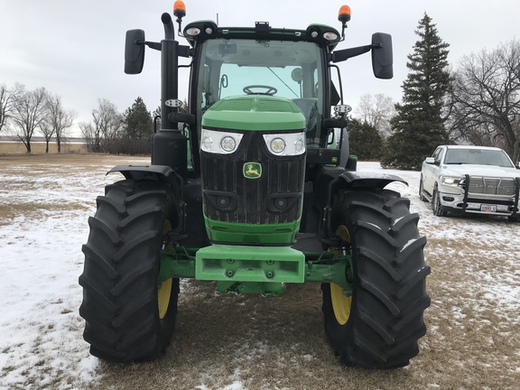
<instances>
[{"instance_id":1,"label":"tractor's large front windshield with steering wheel visible behind it","mask_svg":"<svg viewBox=\"0 0 520 390\"><path fill-rule=\"evenodd\" d=\"M201 51L198 114L222 98L248 94L288 98L305 116L309 144L319 143L323 72L318 45L218 39L204 42Z\"/></svg>"}]
</instances>

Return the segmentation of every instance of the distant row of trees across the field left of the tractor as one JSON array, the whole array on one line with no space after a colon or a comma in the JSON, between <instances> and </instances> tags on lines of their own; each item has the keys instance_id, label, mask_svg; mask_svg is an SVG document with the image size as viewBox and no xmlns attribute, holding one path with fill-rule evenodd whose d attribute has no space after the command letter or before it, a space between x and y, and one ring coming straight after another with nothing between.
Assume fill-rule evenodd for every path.
<instances>
[{"instance_id":1,"label":"distant row of trees across the field left of the tractor","mask_svg":"<svg viewBox=\"0 0 520 390\"><path fill-rule=\"evenodd\" d=\"M54 139L60 153L76 116L74 110L63 107L60 96L46 88L29 90L18 83L14 88L0 86L0 135L22 142L27 153L32 152L34 135L43 136L46 153ZM136 98L124 113L100 98L92 120L79 123L79 129L89 153L146 154L151 149L153 116L160 116L160 108L152 114L142 98Z\"/></svg>"}]
</instances>

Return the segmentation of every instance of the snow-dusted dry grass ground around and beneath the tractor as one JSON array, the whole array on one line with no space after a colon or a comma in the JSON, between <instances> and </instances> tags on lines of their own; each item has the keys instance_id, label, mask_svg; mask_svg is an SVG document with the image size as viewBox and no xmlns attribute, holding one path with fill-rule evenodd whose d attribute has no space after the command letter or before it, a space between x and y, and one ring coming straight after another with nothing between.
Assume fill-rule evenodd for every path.
<instances>
[{"instance_id":1,"label":"snow-dusted dry grass ground around and beneath the tractor","mask_svg":"<svg viewBox=\"0 0 520 390\"><path fill-rule=\"evenodd\" d=\"M63 264L63 274L49 282L39 268L24 274L22 284L37 291L18 300L12 290L0 290L2 389L520 389L520 224L502 218L433 217L429 204L416 195L419 172L392 172L410 184L398 190L421 217L419 228L428 239L425 257L432 267L427 279L432 306L424 314L428 332L410 366L389 371L341 366L323 330L317 283L289 285L280 297L263 298L224 295L213 283L191 280L181 282L176 329L166 355L153 363L124 366L88 357L81 339L80 247L96 196L118 179L105 176L107 167L148 159L2 153L0 149L0 279L7 277L2 267L15 272L32 261L47 267ZM378 169L375 163L359 163L358 168ZM60 194L61 201L55 201ZM60 218L67 222L65 237ZM46 225L50 219L54 222ZM20 220L24 224L18 225ZM41 234L51 244L35 240L32 246L17 246L13 238ZM45 283L55 283L50 292ZM47 308L46 300L53 303L55 296L66 314ZM23 303L20 312L5 311L13 302ZM22 311L25 307L30 310ZM58 333L54 341L32 348L32 333L49 339L50 326ZM15 338L18 333L27 335Z\"/></svg>"}]
</instances>

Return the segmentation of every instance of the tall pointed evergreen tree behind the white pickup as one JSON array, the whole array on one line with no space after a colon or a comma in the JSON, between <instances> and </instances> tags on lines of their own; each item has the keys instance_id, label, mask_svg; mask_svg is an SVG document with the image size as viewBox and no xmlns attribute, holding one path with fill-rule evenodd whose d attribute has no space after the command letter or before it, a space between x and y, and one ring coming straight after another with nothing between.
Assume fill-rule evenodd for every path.
<instances>
[{"instance_id":1,"label":"tall pointed evergreen tree behind the white pickup","mask_svg":"<svg viewBox=\"0 0 520 390\"><path fill-rule=\"evenodd\" d=\"M395 105L397 115L390 122L393 134L385 143L381 159L384 167L420 169L436 146L449 141L442 109L450 88L450 45L442 42L427 14L415 33L420 40L408 55L406 67L410 71L403 83L403 103Z\"/></svg>"}]
</instances>

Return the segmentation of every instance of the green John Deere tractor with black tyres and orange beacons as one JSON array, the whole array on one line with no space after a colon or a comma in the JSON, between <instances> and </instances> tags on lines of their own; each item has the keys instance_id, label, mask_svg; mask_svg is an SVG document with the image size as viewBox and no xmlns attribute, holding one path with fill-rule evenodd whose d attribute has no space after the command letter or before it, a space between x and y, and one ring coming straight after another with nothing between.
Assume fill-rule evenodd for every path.
<instances>
[{"instance_id":1,"label":"green John Deere tractor with black tyres and orange beacons","mask_svg":"<svg viewBox=\"0 0 520 390\"><path fill-rule=\"evenodd\" d=\"M119 165L88 219L79 277L90 353L114 362L161 357L172 336L179 281L220 292L279 295L321 283L324 324L340 360L403 367L426 331L424 237L410 200L385 186L401 178L357 172L335 63L371 51L376 78L393 77L392 38L335 50L342 32L220 27L182 30L185 7L162 15L164 39L126 32L125 73L144 48L161 51L161 129L152 162ZM178 97L179 57L190 59L188 107ZM182 111L182 112L181 112ZM331 112L333 114L331 115Z\"/></svg>"}]
</instances>

